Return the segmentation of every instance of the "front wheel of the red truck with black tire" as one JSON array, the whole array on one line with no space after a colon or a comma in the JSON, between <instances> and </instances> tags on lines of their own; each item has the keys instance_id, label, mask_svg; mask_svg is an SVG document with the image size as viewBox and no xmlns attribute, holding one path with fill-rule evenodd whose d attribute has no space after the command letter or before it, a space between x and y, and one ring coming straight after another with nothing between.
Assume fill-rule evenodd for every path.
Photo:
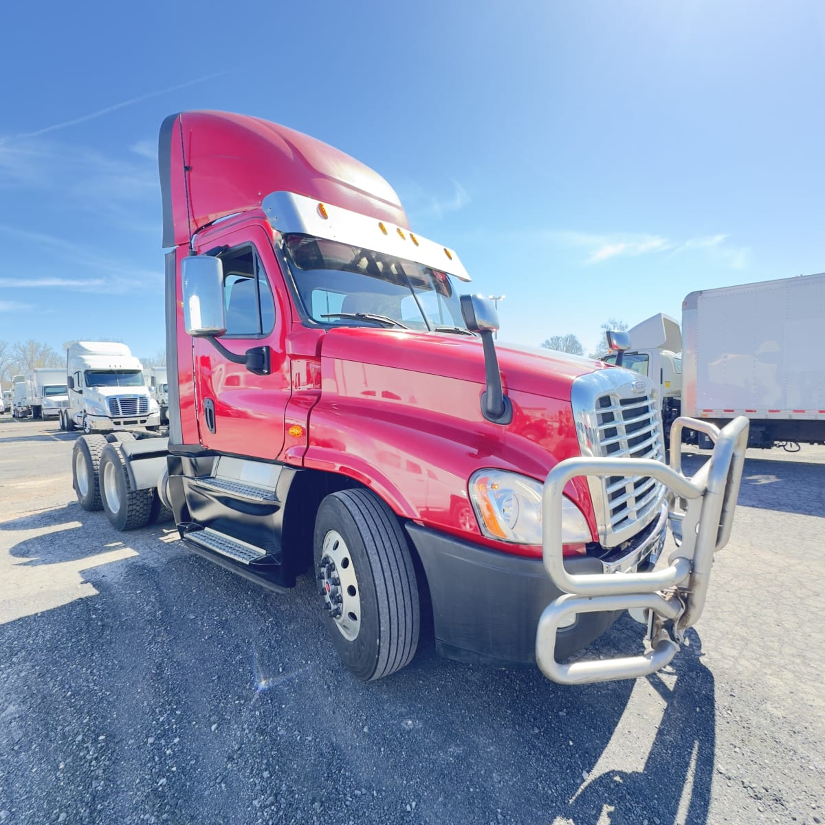
<instances>
[{"instance_id":1,"label":"front wheel of the red truck with black tire","mask_svg":"<svg viewBox=\"0 0 825 825\"><path fill-rule=\"evenodd\" d=\"M394 513L375 493L342 490L318 507L315 568L338 657L359 679L408 665L421 615L413 560Z\"/></svg>"}]
</instances>

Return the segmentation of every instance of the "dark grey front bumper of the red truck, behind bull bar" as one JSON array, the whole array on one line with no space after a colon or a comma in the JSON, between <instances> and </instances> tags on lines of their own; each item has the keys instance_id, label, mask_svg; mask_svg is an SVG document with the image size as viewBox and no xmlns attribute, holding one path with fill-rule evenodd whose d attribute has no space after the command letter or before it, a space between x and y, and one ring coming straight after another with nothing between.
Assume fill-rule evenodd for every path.
<instances>
[{"instance_id":1,"label":"dark grey front bumper of the red truck, behind bull bar","mask_svg":"<svg viewBox=\"0 0 825 825\"><path fill-rule=\"evenodd\" d=\"M432 601L436 648L447 658L506 666L535 665L535 634L544 608L563 591L542 559L498 553L436 530L409 523L408 535L422 560ZM564 559L569 573L652 568L667 533L667 509L621 558ZM586 648L620 616L620 610L583 613L560 628L556 655Z\"/></svg>"}]
</instances>

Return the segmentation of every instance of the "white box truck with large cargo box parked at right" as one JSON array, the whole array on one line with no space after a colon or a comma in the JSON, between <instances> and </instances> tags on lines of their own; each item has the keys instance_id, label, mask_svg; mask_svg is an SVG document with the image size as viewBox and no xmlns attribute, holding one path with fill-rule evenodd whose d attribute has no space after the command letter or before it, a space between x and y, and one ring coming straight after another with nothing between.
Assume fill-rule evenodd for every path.
<instances>
[{"instance_id":1,"label":"white box truck with large cargo box parked at right","mask_svg":"<svg viewBox=\"0 0 825 825\"><path fill-rule=\"evenodd\" d=\"M698 290L682 302L681 333L664 314L629 330L624 363L658 383L666 423L744 416L748 446L825 444L823 327L825 273Z\"/></svg>"}]
</instances>

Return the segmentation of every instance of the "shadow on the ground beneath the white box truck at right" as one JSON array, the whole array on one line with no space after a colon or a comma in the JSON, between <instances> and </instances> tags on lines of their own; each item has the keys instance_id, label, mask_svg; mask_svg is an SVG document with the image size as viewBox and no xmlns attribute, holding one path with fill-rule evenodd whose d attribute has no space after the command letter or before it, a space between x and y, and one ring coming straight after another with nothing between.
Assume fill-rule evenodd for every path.
<instances>
[{"instance_id":1,"label":"shadow on the ground beneath the white box truck at right","mask_svg":"<svg viewBox=\"0 0 825 825\"><path fill-rule=\"evenodd\" d=\"M682 455L682 469L692 475L707 455ZM825 465L771 459L745 460L738 503L742 507L825 515Z\"/></svg>"}]
</instances>

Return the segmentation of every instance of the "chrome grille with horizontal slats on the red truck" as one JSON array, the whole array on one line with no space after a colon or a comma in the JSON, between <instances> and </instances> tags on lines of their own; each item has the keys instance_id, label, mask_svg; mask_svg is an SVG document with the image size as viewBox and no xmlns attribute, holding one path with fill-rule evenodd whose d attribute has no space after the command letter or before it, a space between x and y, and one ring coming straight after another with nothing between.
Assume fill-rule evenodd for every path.
<instances>
[{"instance_id":1,"label":"chrome grille with horizontal slats on the red truck","mask_svg":"<svg viewBox=\"0 0 825 825\"><path fill-rule=\"evenodd\" d=\"M573 414L582 455L664 460L662 416L648 380L625 370L599 370L573 383ZM633 538L658 515L662 483L649 477L589 476L606 547Z\"/></svg>"}]
</instances>

